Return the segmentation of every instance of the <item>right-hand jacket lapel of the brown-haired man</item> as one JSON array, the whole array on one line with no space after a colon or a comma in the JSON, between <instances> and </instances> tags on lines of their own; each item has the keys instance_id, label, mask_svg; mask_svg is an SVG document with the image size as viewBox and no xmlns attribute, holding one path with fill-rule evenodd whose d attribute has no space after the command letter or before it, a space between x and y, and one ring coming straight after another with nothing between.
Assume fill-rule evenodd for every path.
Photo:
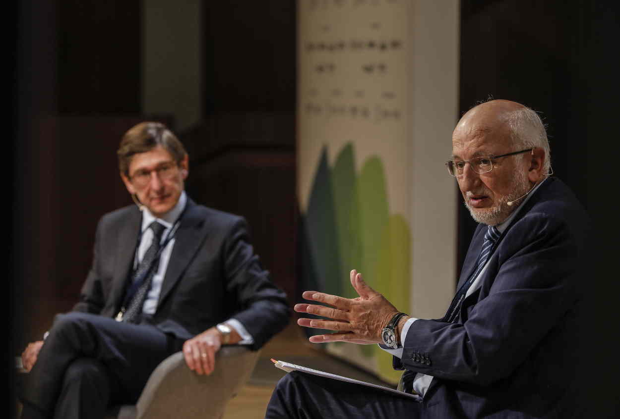
<instances>
[{"instance_id":1,"label":"right-hand jacket lapel of the brown-haired man","mask_svg":"<svg viewBox=\"0 0 620 419\"><path fill-rule=\"evenodd\" d=\"M179 230L174 237L174 247L172 248L172 254L170 254L166 275L161 286L161 293L159 293L157 308L166 300L174 285L185 272L188 264L193 260L198 248L200 248L206 235L205 224L204 217L201 217L200 207L194 204L191 199L188 199L187 209L183 218L181 218Z\"/></svg>"}]
</instances>

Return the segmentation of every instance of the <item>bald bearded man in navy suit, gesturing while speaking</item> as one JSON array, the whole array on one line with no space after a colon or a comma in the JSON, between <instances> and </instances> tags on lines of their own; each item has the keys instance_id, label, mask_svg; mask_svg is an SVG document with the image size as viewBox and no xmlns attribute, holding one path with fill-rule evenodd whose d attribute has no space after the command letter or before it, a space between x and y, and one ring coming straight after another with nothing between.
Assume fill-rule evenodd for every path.
<instances>
[{"instance_id":1,"label":"bald bearded man in navy suit, gesturing while speaking","mask_svg":"<svg viewBox=\"0 0 620 419\"><path fill-rule=\"evenodd\" d=\"M278 383L267 418L580 417L578 367L585 316L588 216L557 178L538 115L494 100L454 129L456 176L479 222L457 293L441 319L400 313L352 270L354 300L321 292L295 310L328 317L301 326L335 330L311 342L379 343L404 369L415 398L303 373Z\"/></svg>"}]
</instances>

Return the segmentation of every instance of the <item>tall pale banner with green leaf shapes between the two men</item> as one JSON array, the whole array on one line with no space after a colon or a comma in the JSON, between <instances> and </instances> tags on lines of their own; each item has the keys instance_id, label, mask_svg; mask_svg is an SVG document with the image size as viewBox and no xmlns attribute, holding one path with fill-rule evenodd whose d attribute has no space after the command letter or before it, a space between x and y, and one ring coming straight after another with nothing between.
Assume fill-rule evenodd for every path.
<instances>
[{"instance_id":1,"label":"tall pale banner with green leaf shapes between the two men","mask_svg":"<svg viewBox=\"0 0 620 419\"><path fill-rule=\"evenodd\" d=\"M457 276L441 163L458 119L459 2L298 5L301 286L355 298L356 269L396 308L441 317ZM376 345L322 346L385 381L402 374Z\"/></svg>"}]
</instances>

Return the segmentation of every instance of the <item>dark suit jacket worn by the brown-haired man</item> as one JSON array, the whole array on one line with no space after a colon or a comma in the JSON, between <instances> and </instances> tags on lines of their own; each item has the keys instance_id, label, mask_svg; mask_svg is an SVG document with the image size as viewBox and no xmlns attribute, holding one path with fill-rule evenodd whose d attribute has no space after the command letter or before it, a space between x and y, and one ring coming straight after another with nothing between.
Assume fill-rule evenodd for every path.
<instances>
[{"instance_id":1,"label":"dark suit jacket worn by the brown-haired man","mask_svg":"<svg viewBox=\"0 0 620 419\"><path fill-rule=\"evenodd\" d=\"M94 261L74 310L113 317L133 266L141 212L135 205L101 218ZM233 317L254 337L257 349L288 322L285 293L263 270L249 244L242 217L196 205L175 235L154 324L180 340Z\"/></svg>"}]
</instances>

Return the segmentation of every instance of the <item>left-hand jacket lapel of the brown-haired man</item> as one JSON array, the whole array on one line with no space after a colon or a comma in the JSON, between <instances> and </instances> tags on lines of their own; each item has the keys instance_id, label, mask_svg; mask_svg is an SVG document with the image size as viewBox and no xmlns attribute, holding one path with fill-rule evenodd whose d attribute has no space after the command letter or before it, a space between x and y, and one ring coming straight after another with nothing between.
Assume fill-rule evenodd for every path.
<instances>
[{"instance_id":1,"label":"left-hand jacket lapel of the brown-haired man","mask_svg":"<svg viewBox=\"0 0 620 419\"><path fill-rule=\"evenodd\" d=\"M131 264L136 251L136 243L138 242L138 234L142 220L142 213L138 209L131 209L130 215L126 223L122 225L118 231L118 248L114 263L114 276L112 279L112 299L115 303L115 309L122 304L123 291L125 283L131 271Z\"/></svg>"}]
</instances>

